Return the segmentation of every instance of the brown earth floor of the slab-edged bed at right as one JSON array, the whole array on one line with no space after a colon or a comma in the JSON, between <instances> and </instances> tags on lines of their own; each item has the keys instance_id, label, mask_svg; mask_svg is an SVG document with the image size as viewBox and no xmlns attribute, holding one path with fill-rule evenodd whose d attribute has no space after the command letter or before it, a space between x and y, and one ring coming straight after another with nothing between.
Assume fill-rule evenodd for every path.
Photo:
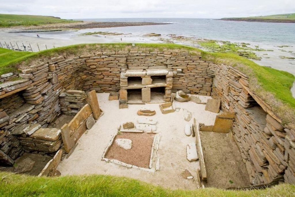
<instances>
[{"instance_id":1,"label":"brown earth floor of the slab-edged bed at right","mask_svg":"<svg viewBox=\"0 0 295 197\"><path fill-rule=\"evenodd\" d=\"M230 133L201 132L207 183L205 187L249 186L249 175Z\"/></svg>"}]
</instances>

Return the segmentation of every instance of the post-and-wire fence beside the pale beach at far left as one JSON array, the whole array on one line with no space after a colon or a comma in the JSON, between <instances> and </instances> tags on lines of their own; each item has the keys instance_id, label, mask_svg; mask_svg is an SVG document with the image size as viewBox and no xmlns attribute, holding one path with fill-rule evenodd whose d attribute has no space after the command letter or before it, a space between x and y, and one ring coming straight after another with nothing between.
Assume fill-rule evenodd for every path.
<instances>
[{"instance_id":1,"label":"post-and-wire fence beside the pale beach at far left","mask_svg":"<svg viewBox=\"0 0 295 197\"><path fill-rule=\"evenodd\" d=\"M7 48L13 51L37 52L37 51L47 50L50 48L55 48L55 45L46 45L46 44L39 45L38 43L31 45L31 43L25 43L25 42L17 43L17 42L0 41L0 47Z\"/></svg>"}]
</instances>

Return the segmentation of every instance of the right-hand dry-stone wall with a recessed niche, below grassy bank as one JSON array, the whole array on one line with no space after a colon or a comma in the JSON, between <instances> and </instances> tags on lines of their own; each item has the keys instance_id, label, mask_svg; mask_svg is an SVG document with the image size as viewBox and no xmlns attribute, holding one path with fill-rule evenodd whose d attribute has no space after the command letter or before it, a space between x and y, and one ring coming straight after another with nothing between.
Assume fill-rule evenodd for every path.
<instances>
[{"instance_id":1,"label":"right-hand dry-stone wall with a recessed niche, below grassy bank","mask_svg":"<svg viewBox=\"0 0 295 197\"><path fill-rule=\"evenodd\" d=\"M224 64L209 63L214 71L212 97L223 111L235 113L234 139L253 185L285 179L295 183L294 128L281 125L271 109L250 92L248 78Z\"/></svg>"}]
</instances>

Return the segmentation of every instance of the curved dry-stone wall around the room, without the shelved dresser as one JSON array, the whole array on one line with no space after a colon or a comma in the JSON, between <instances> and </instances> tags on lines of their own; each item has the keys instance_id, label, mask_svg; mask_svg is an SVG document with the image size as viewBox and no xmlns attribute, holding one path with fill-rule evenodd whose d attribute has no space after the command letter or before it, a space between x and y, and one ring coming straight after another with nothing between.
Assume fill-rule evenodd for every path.
<instances>
[{"instance_id":1,"label":"curved dry-stone wall around the room, without the shelved dresser","mask_svg":"<svg viewBox=\"0 0 295 197\"><path fill-rule=\"evenodd\" d=\"M97 52L42 61L23 68L19 74L22 79L12 80L17 76L15 73L1 76L2 159L16 159L26 146L22 141L26 139L13 135L14 130L24 124L39 124L46 128L63 112L62 109L68 107L67 104L71 105L65 99L62 101L67 90L119 92L128 87L125 74L130 70L166 69L169 79L165 81L169 84L165 89L167 101L171 92L183 90L190 94L211 95L221 100L223 111L235 113L231 131L252 184L278 179L295 183L294 127L282 125L272 109L251 92L248 77L231 66L206 62L201 56L179 50ZM149 81L149 77L146 78L144 81ZM73 97L80 99L78 95ZM98 109L91 105L92 113L94 110L100 113ZM94 113L93 116L99 117ZM70 128L69 132L72 136Z\"/></svg>"}]
</instances>

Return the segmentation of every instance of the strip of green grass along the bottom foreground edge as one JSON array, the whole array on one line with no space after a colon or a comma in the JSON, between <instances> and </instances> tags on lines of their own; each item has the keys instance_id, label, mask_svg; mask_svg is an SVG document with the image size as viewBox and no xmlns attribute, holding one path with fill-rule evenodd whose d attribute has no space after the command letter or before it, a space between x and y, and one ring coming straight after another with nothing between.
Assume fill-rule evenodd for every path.
<instances>
[{"instance_id":1,"label":"strip of green grass along the bottom foreground edge","mask_svg":"<svg viewBox=\"0 0 295 197\"><path fill-rule=\"evenodd\" d=\"M295 186L276 185L262 190L205 188L171 190L139 180L109 175L34 177L0 172L0 196L294 196Z\"/></svg>"}]
</instances>

